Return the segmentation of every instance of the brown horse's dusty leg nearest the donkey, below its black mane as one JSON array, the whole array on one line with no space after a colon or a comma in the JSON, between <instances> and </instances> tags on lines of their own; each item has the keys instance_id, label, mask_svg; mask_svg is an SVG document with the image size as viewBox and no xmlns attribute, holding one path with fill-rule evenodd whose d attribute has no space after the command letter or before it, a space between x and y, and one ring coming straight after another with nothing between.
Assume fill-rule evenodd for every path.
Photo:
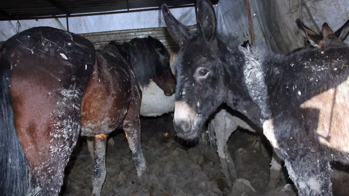
<instances>
[{"instance_id":1,"label":"brown horse's dusty leg nearest the donkey, below its black mane","mask_svg":"<svg viewBox=\"0 0 349 196\"><path fill-rule=\"evenodd\" d=\"M137 169L138 178L146 171L146 159L144 158L141 147L141 123L139 119L139 100L132 100L122 123L122 128L125 131L129 148L132 151L132 159L134 166Z\"/></svg>"}]
</instances>

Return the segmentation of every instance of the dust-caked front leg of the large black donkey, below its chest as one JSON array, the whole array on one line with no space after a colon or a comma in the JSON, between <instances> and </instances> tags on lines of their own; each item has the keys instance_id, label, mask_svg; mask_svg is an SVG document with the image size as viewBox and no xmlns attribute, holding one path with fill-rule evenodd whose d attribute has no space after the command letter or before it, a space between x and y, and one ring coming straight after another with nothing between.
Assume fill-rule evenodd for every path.
<instances>
[{"instance_id":1,"label":"dust-caked front leg of the large black donkey, below its chest","mask_svg":"<svg viewBox=\"0 0 349 196\"><path fill-rule=\"evenodd\" d=\"M299 196L332 196L332 170L327 160L316 156L298 156L292 161L286 158L285 166Z\"/></svg>"}]
</instances>

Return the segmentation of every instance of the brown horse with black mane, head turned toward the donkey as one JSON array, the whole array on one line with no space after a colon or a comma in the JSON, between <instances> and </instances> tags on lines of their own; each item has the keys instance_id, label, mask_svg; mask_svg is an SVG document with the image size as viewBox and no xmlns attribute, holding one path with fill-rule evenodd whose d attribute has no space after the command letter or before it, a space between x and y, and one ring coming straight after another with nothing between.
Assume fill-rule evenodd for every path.
<instances>
[{"instance_id":1,"label":"brown horse with black mane, head turned toward the donkey","mask_svg":"<svg viewBox=\"0 0 349 196\"><path fill-rule=\"evenodd\" d=\"M130 69L135 75L127 71ZM124 129L138 176L146 169L140 143L140 86L145 87L153 80L165 95L171 96L176 83L170 69L169 52L159 40L150 36L134 38L123 45L110 42L97 50L90 78L81 102L81 135L93 141L92 195L100 195L106 176L107 135L114 129Z\"/></svg>"}]
</instances>

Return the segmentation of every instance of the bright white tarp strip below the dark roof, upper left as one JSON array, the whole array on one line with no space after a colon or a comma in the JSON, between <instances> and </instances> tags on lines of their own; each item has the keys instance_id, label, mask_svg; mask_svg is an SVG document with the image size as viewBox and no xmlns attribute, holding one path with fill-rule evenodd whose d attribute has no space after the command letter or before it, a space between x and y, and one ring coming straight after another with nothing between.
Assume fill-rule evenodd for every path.
<instances>
[{"instance_id":1,"label":"bright white tarp strip below the dark roof, upper left","mask_svg":"<svg viewBox=\"0 0 349 196\"><path fill-rule=\"evenodd\" d=\"M171 12L185 25L196 24L194 7L175 8ZM0 41L32 27L49 26L66 30L67 26L66 18L21 20L19 23L21 27L18 30L17 21L0 21ZM69 31L77 34L165 26L161 10L69 18Z\"/></svg>"}]
</instances>

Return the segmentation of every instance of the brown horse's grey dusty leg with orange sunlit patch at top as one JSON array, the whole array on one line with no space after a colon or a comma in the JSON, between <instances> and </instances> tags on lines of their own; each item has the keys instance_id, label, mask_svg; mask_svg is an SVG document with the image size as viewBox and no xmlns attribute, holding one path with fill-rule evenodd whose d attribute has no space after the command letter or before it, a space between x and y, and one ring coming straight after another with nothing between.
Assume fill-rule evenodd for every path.
<instances>
[{"instance_id":1,"label":"brown horse's grey dusty leg with orange sunlit patch at top","mask_svg":"<svg viewBox=\"0 0 349 196\"><path fill-rule=\"evenodd\" d=\"M107 135L100 134L92 138L93 142L93 173L92 173L92 196L100 196L106 176L105 147Z\"/></svg>"}]
</instances>

